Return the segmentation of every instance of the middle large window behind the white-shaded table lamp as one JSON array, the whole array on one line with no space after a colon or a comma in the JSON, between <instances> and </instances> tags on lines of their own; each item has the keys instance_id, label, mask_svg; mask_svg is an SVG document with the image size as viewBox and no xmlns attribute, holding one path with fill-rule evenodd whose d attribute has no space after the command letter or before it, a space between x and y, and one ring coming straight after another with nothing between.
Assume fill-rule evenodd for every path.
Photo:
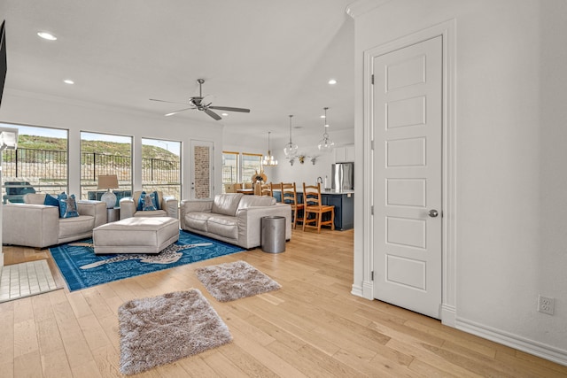
<instances>
[{"instance_id":1,"label":"middle large window behind the white-shaded table lamp","mask_svg":"<svg viewBox=\"0 0 567 378\"><path fill-rule=\"evenodd\" d=\"M113 189L116 205L132 196L132 137L81 133L81 198L97 199L105 193L97 189L100 174L116 174L119 188Z\"/></svg>"}]
</instances>

